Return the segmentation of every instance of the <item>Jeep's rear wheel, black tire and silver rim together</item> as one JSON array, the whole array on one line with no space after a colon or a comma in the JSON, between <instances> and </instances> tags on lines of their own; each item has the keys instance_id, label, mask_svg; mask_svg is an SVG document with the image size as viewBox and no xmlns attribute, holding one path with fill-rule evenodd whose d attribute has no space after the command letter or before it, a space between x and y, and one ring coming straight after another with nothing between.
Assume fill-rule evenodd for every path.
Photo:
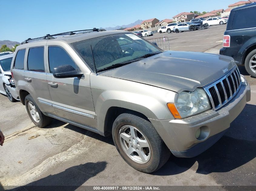
<instances>
[{"instance_id":1,"label":"Jeep's rear wheel, black tire and silver rim together","mask_svg":"<svg viewBox=\"0 0 256 191\"><path fill-rule=\"evenodd\" d=\"M32 106L31 104L34 106L34 110L31 107ZM30 94L28 94L25 97L25 106L26 106L26 110L28 112L28 116L30 117L32 122L39 128L43 128L52 122L52 118L45 116L42 113L42 111L38 108L37 104L35 103L35 100L33 99L33 97ZM32 109L32 111L30 111L31 109ZM32 116L32 113L30 113L30 112L34 113L33 114L34 118ZM37 121L37 119L38 119L38 121Z\"/></svg>"}]
</instances>

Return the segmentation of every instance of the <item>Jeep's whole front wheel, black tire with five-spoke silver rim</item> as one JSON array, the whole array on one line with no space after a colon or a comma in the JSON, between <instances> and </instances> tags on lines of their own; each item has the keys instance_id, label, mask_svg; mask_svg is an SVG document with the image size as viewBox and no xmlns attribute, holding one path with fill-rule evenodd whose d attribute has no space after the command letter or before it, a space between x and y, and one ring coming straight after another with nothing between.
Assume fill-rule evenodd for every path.
<instances>
[{"instance_id":1,"label":"Jeep's whole front wheel, black tire with five-spoke silver rim","mask_svg":"<svg viewBox=\"0 0 256 191\"><path fill-rule=\"evenodd\" d=\"M170 150L154 126L139 116L129 113L119 115L113 123L112 136L121 157L140 172L154 172L170 157ZM148 147L142 147L143 144ZM126 151L131 154L127 154ZM141 160L140 156L143 156L144 160Z\"/></svg>"}]
</instances>

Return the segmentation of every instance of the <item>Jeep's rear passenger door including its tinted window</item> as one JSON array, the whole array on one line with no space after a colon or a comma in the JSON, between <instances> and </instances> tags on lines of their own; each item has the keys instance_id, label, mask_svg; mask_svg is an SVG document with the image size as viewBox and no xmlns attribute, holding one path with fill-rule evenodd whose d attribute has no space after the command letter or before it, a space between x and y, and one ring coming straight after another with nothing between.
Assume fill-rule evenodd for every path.
<instances>
[{"instance_id":1,"label":"Jeep's rear passenger door including its tinted window","mask_svg":"<svg viewBox=\"0 0 256 191\"><path fill-rule=\"evenodd\" d=\"M46 44L46 42L44 42ZM26 50L24 82L42 112L54 113L45 70L45 47L30 47Z\"/></svg>"}]
</instances>

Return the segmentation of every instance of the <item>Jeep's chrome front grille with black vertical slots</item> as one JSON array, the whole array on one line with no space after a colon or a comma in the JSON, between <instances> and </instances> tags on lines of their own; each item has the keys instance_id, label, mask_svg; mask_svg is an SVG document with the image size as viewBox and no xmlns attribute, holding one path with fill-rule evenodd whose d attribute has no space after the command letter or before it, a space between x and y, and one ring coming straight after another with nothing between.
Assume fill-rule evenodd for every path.
<instances>
[{"instance_id":1,"label":"Jeep's chrome front grille with black vertical slots","mask_svg":"<svg viewBox=\"0 0 256 191\"><path fill-rule=\"evenodd\" d=\"M213 110L218 110L228 103L241 88L241 77L237 67L227 75L204 87L210 98Z\"/></svg>"}]
</instances>

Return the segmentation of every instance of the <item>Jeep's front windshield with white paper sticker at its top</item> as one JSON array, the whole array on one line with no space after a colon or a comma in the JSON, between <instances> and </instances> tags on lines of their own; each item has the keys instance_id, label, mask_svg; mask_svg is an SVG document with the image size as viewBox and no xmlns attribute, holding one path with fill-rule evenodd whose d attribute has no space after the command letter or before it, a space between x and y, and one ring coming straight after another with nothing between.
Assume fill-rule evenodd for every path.
<instances>
[{"instance_id":1,"label":"Jeep's front windshield with white paper sticker at its top","mask_svg":"<svg viewBox=\"0 0 256 191\"><path fill-rule=\"evenodd\" d=\"M131 33L83 40L72 43L72 46L95 72L120 67L162 52L148 41Z\"/></svg>"}]
</instances>

